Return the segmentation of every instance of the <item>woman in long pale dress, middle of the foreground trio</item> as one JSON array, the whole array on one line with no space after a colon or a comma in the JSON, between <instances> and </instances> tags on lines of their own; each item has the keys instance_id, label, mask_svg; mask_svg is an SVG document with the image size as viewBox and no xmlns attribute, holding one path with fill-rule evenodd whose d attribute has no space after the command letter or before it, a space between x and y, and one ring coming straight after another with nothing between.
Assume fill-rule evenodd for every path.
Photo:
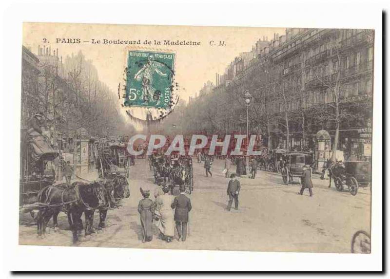
<instances>
[{"instance_id":1,"label":"woman in long pale dress, middle of the foreground trio","mask_svg":"<svg viewBox=\"0 0 390 279\"><path fill-rule=\"evenodd\" d=\"M160 230L160 238L166 242L172 242L175 235L174 210L171 205L174 202L174 196L169 193L169 185L162 188L164 194L156 197L156 226Z\"/></svg>"}]
</instances>

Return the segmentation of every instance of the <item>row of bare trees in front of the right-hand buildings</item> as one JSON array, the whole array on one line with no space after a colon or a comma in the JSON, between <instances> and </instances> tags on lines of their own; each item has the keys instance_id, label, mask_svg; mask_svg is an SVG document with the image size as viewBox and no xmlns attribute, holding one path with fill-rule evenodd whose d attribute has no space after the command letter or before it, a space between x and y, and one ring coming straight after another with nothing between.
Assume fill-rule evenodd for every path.
<instances>
[{"instance_id":1,"label":"row of bare trees in front of the right-hand buildings","mask_svg":"<svg viewBox=\"0 0 390 279\"><path fill-rule=\"evenodd\" d=\"M279 136L285 137L288 149L292 131L302 134L305 145L308 134L313 135L320 129L334 130L333 142L338 143L341 125L364 125L363 120L370 117L372 105L372 96L361 100L345 97L342 78L346 71L345 59L350 54L344 52L340 34L334 32L327 44L334 61L329 71L329 59L318 62L300 57L288 74L275 65L271 57L260 59L227 86L197 98L185 110L175 112L176 116L172 113L165 125L170 126L174 121L183 133L189 134L246 132L244 93L248 91L253 97L249 106L250 132L266 138L269 148L275 148L271 140L275 130L280 130ZM372 36L371 32L367 34ZM322 88L320 100L312 98L310 86L317 91ZM337 144L333 149L337 149Z\"/></svg>"}]
</instances>

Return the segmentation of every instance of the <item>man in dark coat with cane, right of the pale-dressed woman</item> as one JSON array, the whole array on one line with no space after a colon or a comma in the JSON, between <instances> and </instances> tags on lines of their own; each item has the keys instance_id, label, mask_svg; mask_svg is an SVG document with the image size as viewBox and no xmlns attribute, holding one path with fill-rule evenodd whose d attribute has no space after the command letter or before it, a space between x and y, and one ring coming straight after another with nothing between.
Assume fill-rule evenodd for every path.
<instances>
[{"instance_id":1,"label":"man in dark coat with cane, right of the pale-dressed woman","mask_svg":"<svg viewBox=\"0 0 390 279\"><path fill-rule=\"evenodd\" d=\"M186 241L187 223L192 209L191 200L184 194L185 186L180 185L180 194L175 197L172 208L175 209L176 230L179 236L178 241Z\"/></svg>"}]
</instances>

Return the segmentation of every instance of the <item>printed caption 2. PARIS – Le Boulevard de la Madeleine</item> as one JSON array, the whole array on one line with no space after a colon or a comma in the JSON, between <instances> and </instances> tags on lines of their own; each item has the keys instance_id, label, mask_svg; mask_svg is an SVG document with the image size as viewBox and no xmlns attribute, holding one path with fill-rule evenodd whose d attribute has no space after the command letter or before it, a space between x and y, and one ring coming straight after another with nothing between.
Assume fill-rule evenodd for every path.
<instances>
[{"instance_id":1,"label":"printed caption 2. PARIS \u2013 Le Boulevard de la Madeleine","mask_svg":"<svg viewBox=\"0 0 390 279\"><path fill-rule=\"evenodd\" d=\"M43 42L47 42L45 38ZM91 43L91 44L120 44L120 45L188 45L188 46L200 46L200 41L193 40L122 40L122 39L90 39L82 40L80 38L56 38L56 43L63 44L79 44L79 43Z\"/></svg>"}]
</instances>

